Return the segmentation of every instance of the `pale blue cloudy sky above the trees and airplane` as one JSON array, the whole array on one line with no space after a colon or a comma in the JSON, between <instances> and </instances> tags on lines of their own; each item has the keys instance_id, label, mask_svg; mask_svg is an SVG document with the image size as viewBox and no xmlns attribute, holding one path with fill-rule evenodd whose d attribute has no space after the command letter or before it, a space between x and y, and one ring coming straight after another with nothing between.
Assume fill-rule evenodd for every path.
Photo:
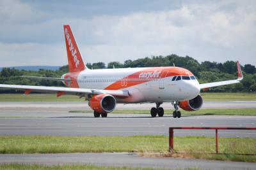
<instances>
[{"instance_id":1,"label":"pale blue cloudy sky above the trees and airplane","mask_svg":"<svg viewBox=\"0 0 256 170\"><path fill-rule=\"evenodd\" d=\"M63 66L63 25L84 62L189 55L256 65L256 1L0 0L0 67Z\"/></svg>"}]
</instances>

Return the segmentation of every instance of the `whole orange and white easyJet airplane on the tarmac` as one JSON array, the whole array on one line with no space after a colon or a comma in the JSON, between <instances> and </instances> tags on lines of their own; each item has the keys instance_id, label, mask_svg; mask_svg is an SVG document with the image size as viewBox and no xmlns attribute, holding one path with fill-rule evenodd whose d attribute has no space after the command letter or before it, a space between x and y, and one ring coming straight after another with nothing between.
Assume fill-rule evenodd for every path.
<instances>
[{"instance_id":1,"label":"whole orange and white easyJet airplane on the tarmac","mask_svg":"<svg viewBox=\"0 0 256 170\"><path fill-rule=\"evenodd\" d=\"M26 78L62 81L67 87L45 87L31 85L4 85L1 89L30 92L55 93L85 97L94 117L107 117L115 110L116 103L156 103L151 108L152 117L163 117L161 104L170 102L174 106L173 118L180 118L179 108L186 111L199 110L203 104L201 89L239 83L243 73L237 61L236 80L198 83L188 69L182 67L136 67L113 69L88 69L83 62L69 25L63 25L67 48L69 73L61 78L24 76Z\"/></svg>"}]
</instances>

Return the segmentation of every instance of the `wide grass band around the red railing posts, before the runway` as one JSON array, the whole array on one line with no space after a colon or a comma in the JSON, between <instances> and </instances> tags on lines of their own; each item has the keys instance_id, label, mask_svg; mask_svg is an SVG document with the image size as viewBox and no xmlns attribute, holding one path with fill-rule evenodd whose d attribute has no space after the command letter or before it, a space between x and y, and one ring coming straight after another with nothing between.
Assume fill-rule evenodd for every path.
<instances>
[{"instance_id":1,"label":"wide grass band around the red railing posts, before the runway","mask_svg":"<svg viewBox=\"0 0 256 170\"><path fill-rule=\"evenodd\" d=\"M163 153L172 157L256 162L255 138L175 137L175 154L168 153L166 136L0 136L0 153ZM200 144L200 145L198 145Z\"/></svg>"}]
</instances>

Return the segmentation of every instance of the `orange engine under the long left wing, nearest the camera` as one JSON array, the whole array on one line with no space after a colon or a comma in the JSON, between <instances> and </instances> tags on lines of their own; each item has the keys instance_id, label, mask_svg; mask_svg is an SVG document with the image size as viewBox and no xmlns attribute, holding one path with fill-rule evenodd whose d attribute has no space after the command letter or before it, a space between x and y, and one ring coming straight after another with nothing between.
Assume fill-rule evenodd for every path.
<instances>
[{"instance_id":1,"label":"orange engine under the long left wing, nearest the camera","mask_svg":"<svg viewBox=\"0 0 256 170\"><path fill-rule=\"evenodd\" d=\"M98 94L90 99L89 106L98 113L109 113L116 107L116 99L110 94Z\"/></svg>"}]
</instances>

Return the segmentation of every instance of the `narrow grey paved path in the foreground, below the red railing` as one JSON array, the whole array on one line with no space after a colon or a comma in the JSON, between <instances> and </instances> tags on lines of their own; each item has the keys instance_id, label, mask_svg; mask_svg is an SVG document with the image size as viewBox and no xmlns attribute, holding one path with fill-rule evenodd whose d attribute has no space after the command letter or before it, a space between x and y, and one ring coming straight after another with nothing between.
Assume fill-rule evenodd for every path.
<instances>
[{"instance_id":1,"label":"narrow grey paved path in the foreground, below the red railing","mask_svg":"<svg viewBox=\"0 0 256 170\"><path fill-rule=\"evenodd\" d=\"M241 170L255 169L250 162L230 162L202 159L175 159L163 157L140 157L136 153L54 153L54 154L0 154L0 164L94 164L118 167L154 167Z\"/></svg>"}]
</instances>

